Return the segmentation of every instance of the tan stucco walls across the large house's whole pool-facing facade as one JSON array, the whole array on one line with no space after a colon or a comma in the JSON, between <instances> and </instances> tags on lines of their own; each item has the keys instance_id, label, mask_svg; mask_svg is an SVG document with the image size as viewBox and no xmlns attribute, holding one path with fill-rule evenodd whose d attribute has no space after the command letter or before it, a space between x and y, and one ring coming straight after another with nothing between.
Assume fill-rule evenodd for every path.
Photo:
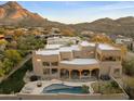
<instances>
[{"instance_id":1,"label":"tan stucco walls across the large house's whole pool-facing facade","mask_svg":"<svg viewBox=\"0 0 134 101\"><path fill-rule=\"evenodd\" d=\"M55 55L36 55L34 53L32 63L34 63L34 71L36 75L43 76L43 68L42 62L58 62L59 65L55 68L68 68L68 70L92 70L92 68L99 68L100 75L112 75L113 77L120 77L122 74L122 54L120 50L100 50L99 48L92 47L92 46L81 46L79 45L80 50L73 50L73 51L61 51L59 54ZM96 56L96 53L99 53L100 58ZM112 60L106 60L107 56L113 56L116 59ZM61 61L67 60L71 61L72 59L92 59L95 58L99 61L99 64L94 65L73 65L73 64L62 64ZM118 60L118 58L120 60ZM40 61L37 61L37 60ZM53 68L52 65L50 65L46 68ZM118 74L115 74L115 71L119 70Z\"/></svg>"}]
</instances>

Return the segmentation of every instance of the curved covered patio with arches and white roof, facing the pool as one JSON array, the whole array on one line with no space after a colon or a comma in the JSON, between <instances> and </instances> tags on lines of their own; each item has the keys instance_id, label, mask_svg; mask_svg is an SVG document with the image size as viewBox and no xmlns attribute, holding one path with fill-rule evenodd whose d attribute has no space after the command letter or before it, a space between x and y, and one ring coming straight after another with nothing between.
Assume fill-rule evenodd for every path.
<instances>
[{"instance_id":1,"label":"curved covered patio with arches and white roof, facing the pool","mask_svg":"<svg viewBox=\"0 0 134 101\"><path fill-rule=\"evenodd\" d=\"M95 59L76 59L62 62L58 72L62 79L98 78L99 65Z\"/></svg>"}]
</instances>

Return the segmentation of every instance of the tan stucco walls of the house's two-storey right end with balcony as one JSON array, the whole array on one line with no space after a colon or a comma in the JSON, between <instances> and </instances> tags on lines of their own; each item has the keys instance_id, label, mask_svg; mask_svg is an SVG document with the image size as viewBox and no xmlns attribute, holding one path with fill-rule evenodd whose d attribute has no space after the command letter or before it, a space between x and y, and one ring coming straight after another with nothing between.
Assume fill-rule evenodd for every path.
<instances>
[{"instance_id":1,"label":"tan stucco walls of the house's two-storey right end with balcony","mask_svg":"<svg viewBox=\"0 0 134 101\"><path fill-rule=\"evenodd\" d=\"M109 76L113 76L113 77L121 77L122 75L122 65L121 65L121 61L122 61L122 54L120 50L100 50L97 49L96 53L99 54L99 58L96 59L100 61L100 75L109 75ZM105 58L108 56L113 56L116 59L116 61L109 61L109 60L105 60ZM115 73L116 70L119 70L119 73Z\"/></svg>"}]
</instances>

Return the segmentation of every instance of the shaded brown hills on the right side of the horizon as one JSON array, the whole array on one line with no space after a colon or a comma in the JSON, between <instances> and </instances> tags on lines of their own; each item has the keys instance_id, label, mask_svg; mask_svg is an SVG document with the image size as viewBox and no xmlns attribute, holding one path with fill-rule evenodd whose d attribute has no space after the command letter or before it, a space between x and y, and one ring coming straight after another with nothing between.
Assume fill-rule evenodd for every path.
<instances>
[{"instance_id":1,"label":"shaded brown hills on the right side of the horizon","mask_svg":"<svg viewBox=\"0 0 134 101\"><path fill-rule=\"evenodd\" d=\"M124 35L134 38L134 17L126 16L117 20L99 18L91 23L79 23L70 25L76 31L92 30L109 35Z\"/></svg>"}]
</instances>

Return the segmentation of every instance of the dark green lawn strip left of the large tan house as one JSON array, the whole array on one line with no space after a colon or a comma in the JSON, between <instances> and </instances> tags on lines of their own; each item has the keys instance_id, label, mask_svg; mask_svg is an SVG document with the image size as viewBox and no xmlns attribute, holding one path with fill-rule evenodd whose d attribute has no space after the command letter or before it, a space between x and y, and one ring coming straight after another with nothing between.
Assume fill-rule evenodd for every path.
<instances>
[{"instance_id":1,"label":"dark green lawn strip left of the large tan house","mask_svg":"<svg viewBox=\"0 0 134 101\"><path fill-rule=\"evenodd\" d=\"M25 85L23 77L28 70L32 70L31 60L0 84L0 93L18 92Z\"/></svg>"}]
</instances>

